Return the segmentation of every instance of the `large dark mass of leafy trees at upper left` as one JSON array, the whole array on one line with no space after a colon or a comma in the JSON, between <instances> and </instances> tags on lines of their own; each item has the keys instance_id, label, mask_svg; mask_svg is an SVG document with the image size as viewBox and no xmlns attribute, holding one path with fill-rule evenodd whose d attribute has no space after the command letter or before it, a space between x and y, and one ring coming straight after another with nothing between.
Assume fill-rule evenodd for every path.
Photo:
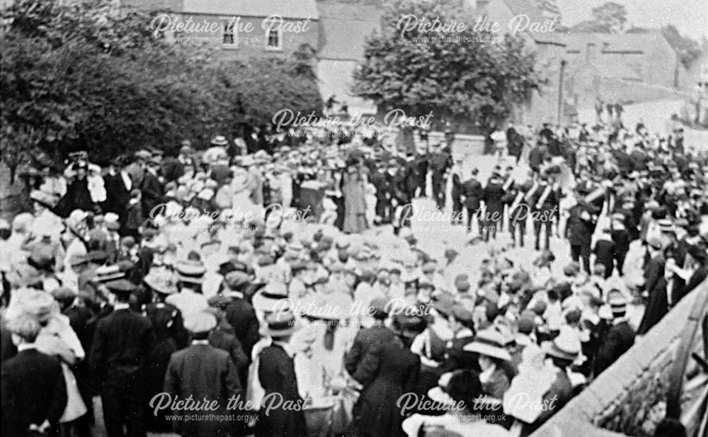
<instances>
[{"instance_id":1,"label":"large dark mass of leafy trees at upper left","mask_svg":"<svg viewBox=\"0 0 708 437\"><path fill-rule=\"evenodd\" d=\"M68 2L64 2L68 3ZM218 47L155 38L151 13L109 0L18 0L2 11L0 143L14 169L35 147L105 162L267 125L278 108L320 110L312 52L224 60Z\"/></svg>"}]
</instances>

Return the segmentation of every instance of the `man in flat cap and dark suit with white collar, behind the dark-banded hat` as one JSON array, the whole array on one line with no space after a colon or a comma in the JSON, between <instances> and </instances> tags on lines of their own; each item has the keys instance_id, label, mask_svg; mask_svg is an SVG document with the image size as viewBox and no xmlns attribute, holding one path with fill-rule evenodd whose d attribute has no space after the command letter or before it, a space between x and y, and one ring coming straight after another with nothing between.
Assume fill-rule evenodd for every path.
<instances>
[{"instance_id":1,"label":"man in flat cap and dark suit with white collar, behind the dark-banded hat","mask_svg":"<svg viewBox=\"0 0 708 437\"><path fill-rule=\"evenodd\" d=\"M229 297L231 302L226 307L225 319L234 328L234 335L241 343L241 347L246 353L249 363L251 363L251 353L253 345L261 338L258 333L258 318L253 305L244 297L244 290L251 283L248 273L234 271L224 278L225 289L223 295ZM248 366L241 370L239 374L242 385L246 385L248 377Z\"/></svg>"}]
</instances>

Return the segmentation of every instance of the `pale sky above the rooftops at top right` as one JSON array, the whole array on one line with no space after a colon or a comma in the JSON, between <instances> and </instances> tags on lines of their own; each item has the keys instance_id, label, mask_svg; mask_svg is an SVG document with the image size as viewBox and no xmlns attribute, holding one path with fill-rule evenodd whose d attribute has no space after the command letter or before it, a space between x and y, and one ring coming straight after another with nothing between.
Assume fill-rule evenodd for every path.
<instances>
[{"instance_id":1,"label":"pale sky above the rooftops at top right","mask_svg":"<svg viewBox=\"0 0 708 437\"><path fill-rule=\"evenodd\" d=\"M591 19L592 8L607 0L556 0L564 25ZM627 8L630 25L661 28L673 24L691 38L708 38L708 0L613 0Z\"/></svg>"}]
</instances>

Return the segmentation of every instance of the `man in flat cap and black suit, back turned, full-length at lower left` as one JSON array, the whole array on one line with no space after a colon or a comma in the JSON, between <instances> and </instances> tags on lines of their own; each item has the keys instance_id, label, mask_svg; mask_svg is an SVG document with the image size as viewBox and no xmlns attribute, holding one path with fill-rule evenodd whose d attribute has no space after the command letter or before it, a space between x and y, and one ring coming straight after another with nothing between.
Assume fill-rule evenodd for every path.
<instances>
[{"instance_id":1,"label":"man in flat cap and black suit, back turned, full-length at lower left","mask_svg":"<svg viewBox=\"0 0 708 437\"><path fill-rule=\"evenodd\" d=\"M108 437L144 436L141 387L145 357L154 343L152 325L130 308L135 284L118 279L105 285L116 303L113 312L98 322L89 359L93 378L101 382L105 431Z\"/></svg>"}]
</instances>

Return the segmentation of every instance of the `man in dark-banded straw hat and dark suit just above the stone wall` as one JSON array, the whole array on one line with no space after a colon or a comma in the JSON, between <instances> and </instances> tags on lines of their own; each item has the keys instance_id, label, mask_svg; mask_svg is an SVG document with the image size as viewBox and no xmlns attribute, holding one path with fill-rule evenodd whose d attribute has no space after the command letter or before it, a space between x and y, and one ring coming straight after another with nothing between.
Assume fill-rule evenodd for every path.
<instances>
[{"instance_id":1,"label":"man in dark-banded straw hat and dark suit just above the stone wall","mask_svg":"<svg viewBox=\"0 0 708 437\"><path fill-rule=\"evenodd\" d=\"M607 293L607 303L612 308L612 327L607 331L605 341L600 344L598 355L595 357L595 376L603 373L634 345L634 329L629 326L625 317L627 299L619 290L611 290Z\"/></svg>"}]
</instances>

